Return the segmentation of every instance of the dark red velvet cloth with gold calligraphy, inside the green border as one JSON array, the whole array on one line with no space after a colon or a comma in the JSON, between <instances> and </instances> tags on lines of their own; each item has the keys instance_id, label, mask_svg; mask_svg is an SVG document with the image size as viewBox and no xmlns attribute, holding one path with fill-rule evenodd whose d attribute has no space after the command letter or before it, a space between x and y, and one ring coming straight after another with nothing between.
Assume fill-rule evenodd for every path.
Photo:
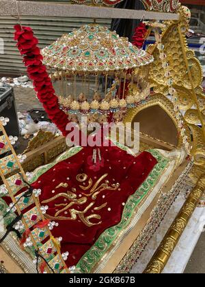
<instances>
[{"instance_id":1,"label":"dark red velvet cloth with gold calligraphy, inside the green border","mask_svg":"<svg viewBox=\"0 0 205 287\"><path fill-rule=\"evenodd\" d=\"M85 254L87 250L92 247L100 234L107 228L115 226L120 223L122 218L122 212L124 210L124 204L128 200L128 197L135 193L141 183L146 180L148 174L152 171L154 165L156 165L156 159L149 152L142 152L139 156L134 157L131 154L127 154L125 151L120 150L118 147L112 148L100 148L102 154L102 162L104 167L101 167L98 172L94 172L90 165L90 156L92 156L93 148L83 148L78 154L57 163L55 167L52 167L45 174L40 176L38 180L32 184L35 188L42 189L42 195L40 196L40 202L42 206L49 206L46 215L54 216L57 209L62 207L55 207L55 204L69 204L70 201L65 197L59 197L55 201L43 204L44 200L57 195L58 193L66 193L72 191L72 188L76 189L77 199L79 194L90 193L90 189L83 191L79 188L79 184L83 185L83 182L78 182L76 176L78 174L87 174L87 180L85 187L88 185L88 180L92 178L93 184L104 174L108 174L105 180L109 180L109 186L113 183L119 183L120 187L117 190L105 190L102 191L96 198L92 200L91 197L87 197L88 200L85 204L70 207L69 209L85 210L85 208L91 203L95 202L94 206L90 208L85 217L93 214L100 215L101 219L90 219L92 223L101 224L92 227L87 227L77 215L76 220L56 220L59 223L58 227L55 227L52 231L53 236L63 238L61 242L61 251L69 251L68 266L77 264L80 258ZM105 182L103 180L101 183ZM68 183L68 188L56 187L61 183ZM55 193L53 192L55 191ZM82 197L85 195L82 195ZM107 206L101 210L94 210L95 207L101 206L107 202ZM109 211L108 209L111 208ZM59 216L70 217L69 210L66 210L68 214L61 213Z\"/></svg>"}]
</instances>

